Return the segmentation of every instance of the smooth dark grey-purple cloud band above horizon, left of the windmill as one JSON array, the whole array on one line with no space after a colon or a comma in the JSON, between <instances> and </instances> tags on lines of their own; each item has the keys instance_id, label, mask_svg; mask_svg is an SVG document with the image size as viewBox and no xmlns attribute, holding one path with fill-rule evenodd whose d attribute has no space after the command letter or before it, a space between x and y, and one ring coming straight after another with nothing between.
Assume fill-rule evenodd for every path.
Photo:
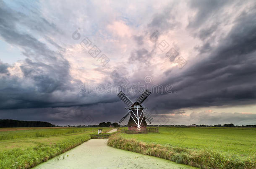
<instances>
[{"instance_id":1,"label":"smooth dark grey-purple cloud band above horizon, left of the windmill","mask_svg":"<svg viewBox=\"0 0 256 169\"><path fill-rule=\"evenodd\" d=\"M102 121L118 122L127 112L124 105L118 102L118 104L97 103L88 106L0 110L0 119L12 117L12 119L29 121L40 119L57 125L94 125Z\"/></svg>"}]
</instances>

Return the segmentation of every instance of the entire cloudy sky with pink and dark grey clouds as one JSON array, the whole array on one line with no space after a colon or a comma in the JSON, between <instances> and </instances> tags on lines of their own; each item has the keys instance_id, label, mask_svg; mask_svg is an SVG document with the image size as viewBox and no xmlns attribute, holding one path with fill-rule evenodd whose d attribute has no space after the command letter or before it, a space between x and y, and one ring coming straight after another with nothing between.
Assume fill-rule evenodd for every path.
<instances>
[{"instance_id":1,"label":"entire cloudy sky with pink and dark grey clouds","mask_svg":"<svg viewBox=\"0 0 256 169\"><path fill-rule=\"evenodd\" d=\"M119 121L134 85L153 124L256 124L256 2L0 0L0 119Z\"/></svg>"}]
</instances>

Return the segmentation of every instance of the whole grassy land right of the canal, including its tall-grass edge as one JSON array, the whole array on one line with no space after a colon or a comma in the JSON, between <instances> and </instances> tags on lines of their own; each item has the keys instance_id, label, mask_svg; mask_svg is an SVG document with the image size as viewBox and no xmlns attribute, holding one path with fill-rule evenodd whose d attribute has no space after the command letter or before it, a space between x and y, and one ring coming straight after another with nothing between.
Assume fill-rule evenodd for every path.
<instances>
[{"instance_id":1,"label":"whole grassy land right of the canal, including its tall-grass edge","mask_svg":"<svg viewBox=\"0 0 256 169\"><path fill-rule=\"evenodd\" d=\"M255 169L255 134L251 129L159 127L157 134L115 134L108 145L204 169Z\"/></svg>"}]
</instances>

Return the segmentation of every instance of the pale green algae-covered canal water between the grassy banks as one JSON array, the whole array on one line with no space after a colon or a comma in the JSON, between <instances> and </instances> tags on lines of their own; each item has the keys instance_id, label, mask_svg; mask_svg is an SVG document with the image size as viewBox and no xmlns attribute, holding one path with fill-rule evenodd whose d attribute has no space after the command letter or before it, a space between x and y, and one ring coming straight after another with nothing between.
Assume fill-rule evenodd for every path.
<instances>
[{"instance_id":1,"label":"pale green algae-covered canal water between the grassy banks","mask_svg":"<svg viewBox=\"0 0 256 169\"><path fill-rule=\"evenodd\" d=\"M91 139L34 169L195 169L169 160L115 149L106 143L107 139Z\"/></svg>"}]
</instances>

